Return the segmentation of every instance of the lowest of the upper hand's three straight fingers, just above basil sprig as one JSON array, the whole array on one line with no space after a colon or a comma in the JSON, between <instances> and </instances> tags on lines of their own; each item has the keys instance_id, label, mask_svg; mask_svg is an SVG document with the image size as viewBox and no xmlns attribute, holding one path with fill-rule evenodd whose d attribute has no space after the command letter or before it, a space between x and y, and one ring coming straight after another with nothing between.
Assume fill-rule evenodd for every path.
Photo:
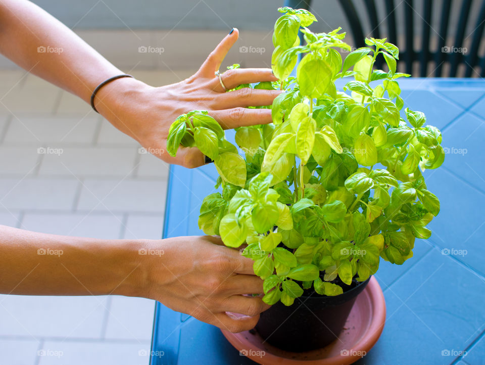
<instances>
[{"instance_id":1,"label":"lowest of the upper hand's three straight fingers, just above basil sprig","mask_svg":"<svg viewBox=\"0 0 485 365\"><path fill-rule=\"evenodd\" d=\"M219 122L223 129L233 129L256 124L269 124L271 119L270 109L247 109L232 108L226 110L214 110L209 114Z\"/></svg>"}]
</instances>

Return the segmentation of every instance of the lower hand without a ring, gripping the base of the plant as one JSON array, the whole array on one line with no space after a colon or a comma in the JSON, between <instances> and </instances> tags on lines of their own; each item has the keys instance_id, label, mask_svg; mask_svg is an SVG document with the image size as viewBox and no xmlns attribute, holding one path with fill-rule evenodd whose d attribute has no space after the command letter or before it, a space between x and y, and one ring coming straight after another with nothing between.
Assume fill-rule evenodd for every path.
<instances>
[{"instance_id":1,"label":"lower hand without a ring, gripping the base of the plant","mask_svg":"<svg viewBox=\"0 0 485 365\"><path fill-rule=\"evenodd\" d=\"M147 249L163 250L163 255L145 257L149 298L230 332L254 328L259 314L270 307L260 297L245 296L263 293L263 281L254 275L253 261L223 246L220 238L192 236L149 242Z\"/></svg>"}]
</instances>

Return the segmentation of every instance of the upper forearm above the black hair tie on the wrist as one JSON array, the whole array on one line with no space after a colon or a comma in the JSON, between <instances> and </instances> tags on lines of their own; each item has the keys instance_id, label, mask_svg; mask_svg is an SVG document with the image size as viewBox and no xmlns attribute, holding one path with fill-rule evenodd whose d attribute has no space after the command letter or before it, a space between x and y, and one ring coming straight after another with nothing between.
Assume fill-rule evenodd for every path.
<instances>
[{"instance_id":1,"label":"upper forearm above the black hair tie on the wrist","mask_svg":"<svg viewBox=\"0 0 485 365\"><path fill-rule=\"evenodd\" d=\"M46 52L38 52L39 47ZM71 29L26 0L0 0L0 53L86 102L100 82L122 73Z\"/></svg>"}]
</instances>

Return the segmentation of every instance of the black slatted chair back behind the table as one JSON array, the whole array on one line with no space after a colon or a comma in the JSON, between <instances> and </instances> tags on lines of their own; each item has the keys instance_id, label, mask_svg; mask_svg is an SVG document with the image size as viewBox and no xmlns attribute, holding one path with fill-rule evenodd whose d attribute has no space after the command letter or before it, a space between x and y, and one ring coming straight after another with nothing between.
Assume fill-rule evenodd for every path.
<instances>
[{"instance_id":1,"label":"black slatted chair back behind the table","mask_svg":"<svg viewBox=\"0 0 485 365\"><path fill-rule=\"evenodd\" d=\"M397 27L397 12L394 0L382 0L378 2L377 6L382 5L385 13L385 18L379 19L376 9L377 1L374 0L359 0L365 8L365 16L367 16L367 23L370 25L368 32L364 33L361 19L356 10L355 3L357 0L337 0L340 3L342 10L347 18L350 30L356 47L364 47L365 36L372 36L375 38L387 37L387 40L396 44L400 49L400 60L398 61L398 68L403 72L413 74L413 76L434 76L434 77L456 77L460 65L464 68L465 77L480 76L485 77L485 55L479 55L480 42L482 39L483 28L485 27L485 0L478 0L479 10L475 19L470 19L470 12L472 9L472 0L443 0L435 2L433 0L423 0L422 9L415 9L413 7L413 0L404 0L402 2L403 14L400 19L404 21L404 36L398 37ZM398 1L399 2L399 1ZM456 23L456 31L454 37L448 47L447 38L449 36L450 13L452 5L456 3L459 8L458 21ZM401 4L401 2L399 2ZM294 8L303 8L309 10L311 0L287 0L285 6ZM437 38L437 48L430 49L431 39L431 15L434 6L440 6L441 10L439 26L434 35ZM418 15L419 14L419 15ZM421 34L416 34L414 30L415 22L421 22ZM468 22L473 22L473 31L471 41L465 38L465 31ZM383 34L381 24L385 23L387 33ZM433 33L435 33L433 32ZM415 49L415 38L420 37L420 46ZM449 52L458 49L467 49L468 52ZM404 64L404 66L402 65ZM413 65L418 64L418 72L415 71ZM428 74L428 68L434 64L434 70ZM448 72L445 74L445 64L449 64ZM380 68L382 60L376 64ZM479 68L477 71L476 68Z\"/></svg>"}]
</instances>

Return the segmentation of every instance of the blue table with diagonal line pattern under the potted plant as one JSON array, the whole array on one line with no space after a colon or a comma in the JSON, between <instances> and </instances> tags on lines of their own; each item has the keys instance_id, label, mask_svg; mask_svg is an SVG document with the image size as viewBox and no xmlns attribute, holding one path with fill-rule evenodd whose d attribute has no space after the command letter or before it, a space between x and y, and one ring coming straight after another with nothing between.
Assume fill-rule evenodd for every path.
<instances>
[{"instance_id":1,"label":"blue table with diagonal line pattern under the potted plant","mask_svg":"<svg viewBox=\"0 0 485 365\"><path fill-rule=\"evenodd\" d=\"M400 79L401 80L401 79ZM485 364L485 81L400 81L405 107L443 132L447 156L425 172L441 200L429 240L416 240L403 265L381 260L384 331L358 364ZM215 192L212 165L170 169L164 237L199 235L202 199ZM152 365L250 364L210 325L157 303Z\"/></svg>"}]
</instances>

